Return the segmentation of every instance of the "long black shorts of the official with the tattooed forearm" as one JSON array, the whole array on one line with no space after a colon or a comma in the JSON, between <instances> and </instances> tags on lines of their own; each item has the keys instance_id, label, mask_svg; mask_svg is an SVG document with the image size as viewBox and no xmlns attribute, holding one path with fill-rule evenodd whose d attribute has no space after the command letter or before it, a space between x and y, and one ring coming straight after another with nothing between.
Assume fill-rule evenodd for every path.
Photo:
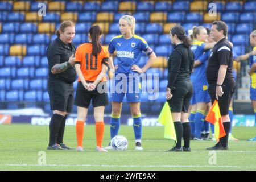
<instances>
[{"instance_id":1,"label":"long black shorts of the official with the tattooed forearm","mask_svg":"<svg viewBox=\"0 0 256 182\"><path fill-rule=\"evenodd\" d=\"M51 110L72 112L74 102L73 84L68 84L57 78L48 78L48 93Z\"/></svg>"}]
</instances>

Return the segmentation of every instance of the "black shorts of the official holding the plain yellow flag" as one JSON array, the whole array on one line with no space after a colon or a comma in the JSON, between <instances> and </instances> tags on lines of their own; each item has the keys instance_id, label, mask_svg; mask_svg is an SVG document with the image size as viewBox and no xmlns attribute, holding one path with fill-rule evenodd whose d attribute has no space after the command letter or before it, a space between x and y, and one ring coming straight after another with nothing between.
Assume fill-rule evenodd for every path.
<instances>
[{"instance_id":1,"label":"black shorts of the official holding the plain yellow flag","mask_svg":"<svg viewBox=\"0 0 256 182\"><path fill-rule=\"evenodd\" d=\"M176 81L172 89L172 98L167 100L170 109L174 113L188 113L190 100L193 95L193 85L190 80Z\"/></svg>"}]
</instances>

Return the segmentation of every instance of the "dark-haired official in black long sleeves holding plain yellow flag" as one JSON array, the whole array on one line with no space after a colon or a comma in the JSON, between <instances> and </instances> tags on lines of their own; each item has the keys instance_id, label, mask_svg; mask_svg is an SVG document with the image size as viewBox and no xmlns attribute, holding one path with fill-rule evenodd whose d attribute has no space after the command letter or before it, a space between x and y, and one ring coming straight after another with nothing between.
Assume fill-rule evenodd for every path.
<instances>
[{"instance_id":1,"label":"dark-haired official in black long sleeves holding plain yellow flag","mask_svg":"<svg viewBox=\"0 0 256 182\"><path fill-rule=\"evenodd\" d=\"M194 64L194 54L183 27L173 27L170 38L175 47L168 58L166 98L172 112L177 142L176 146L168 151L190 152L191 127L188 121L188 107L193 94L190 75ZM183 147L181 147L182 138L184 139Z\"/></svg>"}]
</instances>

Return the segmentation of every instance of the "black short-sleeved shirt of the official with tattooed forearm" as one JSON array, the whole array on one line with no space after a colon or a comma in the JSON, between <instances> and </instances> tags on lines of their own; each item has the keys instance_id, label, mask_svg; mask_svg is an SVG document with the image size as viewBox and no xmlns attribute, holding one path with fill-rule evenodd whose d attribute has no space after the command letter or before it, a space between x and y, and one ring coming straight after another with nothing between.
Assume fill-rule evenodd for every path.
<instances>
[{"instance_id":1,"label":"black short-sleeved shirt of the official with tattooed forearm","mask_svg":"<svg viewBox=\"0 0 256 182\"><path fill-rule=\"evenodd\" d=\"M48 59L48 74L49 77L58 78L69 84L72 84L76 80L75 68L69 67L64 72L52 74L51 69L55 64L65 63L69 60L69 57L74 54L75 56L76 48L70 44L64 44L59 38L53 40L46 50Z\"/></svg>"}]
</instances>

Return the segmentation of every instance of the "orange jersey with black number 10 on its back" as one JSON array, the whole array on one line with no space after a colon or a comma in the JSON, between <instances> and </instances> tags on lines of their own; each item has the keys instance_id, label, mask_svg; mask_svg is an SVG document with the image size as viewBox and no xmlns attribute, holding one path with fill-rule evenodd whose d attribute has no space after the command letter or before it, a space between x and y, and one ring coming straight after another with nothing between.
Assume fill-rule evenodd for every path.
<instances>
[{"instance_id":1,"label":"orange jersey with black number 10 on its back","mask_svg":"<svg viewBox=\"0 0 256 182\"><path fill-rule=\"evenodd\" d=\"M106 66L109 64L108 49L101 46L101 52L95 57L92 54L92 47L92 43L84 43L76 49L75 64L81 65L82 75L86 81L95 81L101 73L102 64ZM106 81L106 76L101 81Z\"/></svg>"}]
</instances>

